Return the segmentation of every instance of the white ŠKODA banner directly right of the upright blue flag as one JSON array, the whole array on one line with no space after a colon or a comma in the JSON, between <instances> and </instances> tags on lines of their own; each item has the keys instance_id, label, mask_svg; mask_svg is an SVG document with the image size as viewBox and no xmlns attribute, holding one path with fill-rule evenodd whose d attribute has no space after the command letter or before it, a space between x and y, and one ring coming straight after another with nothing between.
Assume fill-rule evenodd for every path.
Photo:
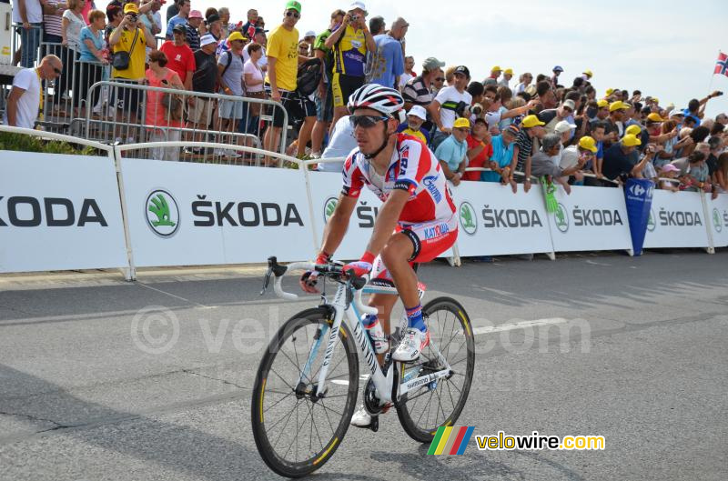
<instances>
[{"instance_id":1,"label":"white \u0160KODA banner directly right of the upright blue flag","mask_svg":"<svg viewBox=\"0 0 728 481\"><path fill-rule=\"evenodd\" d=\"M644 248L708 247L701 194L655 190Z\"/></svg>"}]
</instances>

